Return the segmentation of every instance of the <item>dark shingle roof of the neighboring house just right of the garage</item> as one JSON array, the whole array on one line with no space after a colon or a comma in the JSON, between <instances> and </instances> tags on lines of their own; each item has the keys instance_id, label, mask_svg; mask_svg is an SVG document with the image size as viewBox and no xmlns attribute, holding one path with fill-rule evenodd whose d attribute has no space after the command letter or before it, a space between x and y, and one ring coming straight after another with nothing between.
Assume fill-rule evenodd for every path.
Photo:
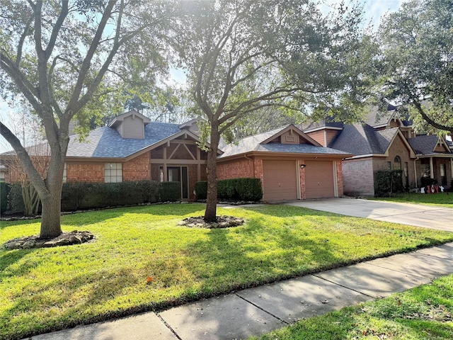
<instances>
[{"instance_id":1,"label":"dark shingle roof of the neighboring house just right of the garage","mask_svg":"<svg viewBox=\"0 0 453 340\"><path fill-rule=\"evenodd\" d=\"M396 133L398 133L398 128L377 131L366 124L347 124L329 147L357 156L361 154L384 154Z\"/></svg>"}]
</instances>

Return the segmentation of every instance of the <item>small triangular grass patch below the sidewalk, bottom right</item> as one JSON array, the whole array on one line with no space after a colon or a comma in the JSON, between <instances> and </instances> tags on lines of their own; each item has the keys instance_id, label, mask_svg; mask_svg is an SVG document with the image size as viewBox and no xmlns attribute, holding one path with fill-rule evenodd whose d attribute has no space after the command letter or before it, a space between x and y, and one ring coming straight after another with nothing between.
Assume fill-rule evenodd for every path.
<instances>
[{"instance_id":1,"label":"small triangular grass patch below the sidewalk, bottom right","mask_svg":"<svg viewBox=\"0 0 453 340\"><path fill-rule=\"evenodd\" d=\"M260 340L453 339L453 275L382 300L312 317Z\"/></svg>"}]
</instances>

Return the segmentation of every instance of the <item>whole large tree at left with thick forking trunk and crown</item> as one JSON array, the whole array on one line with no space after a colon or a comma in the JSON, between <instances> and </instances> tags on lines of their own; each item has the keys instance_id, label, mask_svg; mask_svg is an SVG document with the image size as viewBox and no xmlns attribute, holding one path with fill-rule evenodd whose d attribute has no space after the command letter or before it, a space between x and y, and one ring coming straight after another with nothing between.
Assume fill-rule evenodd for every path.
<instances>
[{"instance_id":1,"label":"whole large tree at left with thick forking trunk and crown","mask_svg":"<svg viewBox=\"0 0 453 340\"><path fill-rule=\"evenodd\" d=\"M74 0L0 2L0 88L37 115L50 147L41 176L20 140L0 122L42 203L40 237L61 234L60 210L69 122L88 128L125 84L153 84L164 67L163 1ZM146 52L146 53L145 53ZM138 73L136 70L140 70ZM86 130L85 130L86 131Z\"/></svg>"}]
</instances>

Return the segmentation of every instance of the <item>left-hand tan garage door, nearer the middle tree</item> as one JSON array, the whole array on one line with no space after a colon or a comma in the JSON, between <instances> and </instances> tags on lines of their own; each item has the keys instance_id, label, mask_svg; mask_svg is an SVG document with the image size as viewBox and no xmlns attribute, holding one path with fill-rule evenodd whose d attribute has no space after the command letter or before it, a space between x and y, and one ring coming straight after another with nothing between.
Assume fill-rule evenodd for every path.
<instances>
[{"instance_id":1,"label":"left-hand tan garage door, nearer the middle tree","mask_svg":"<svg viewBox=\"0 0 453 340\"><path fill-rule=\"evenodd\" d=\"M296 161L263 160L263 199L297 200Z\"/></svg>"}]
</instances>

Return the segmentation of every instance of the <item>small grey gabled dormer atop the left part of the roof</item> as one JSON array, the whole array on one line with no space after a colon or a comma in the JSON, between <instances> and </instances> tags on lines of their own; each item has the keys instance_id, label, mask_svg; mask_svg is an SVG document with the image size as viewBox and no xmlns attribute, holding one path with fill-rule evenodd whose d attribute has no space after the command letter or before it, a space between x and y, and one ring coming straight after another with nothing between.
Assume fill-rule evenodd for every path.
<instances>
[{"instance_id":1,"label":"small grey gabled dormer atop the left part of the roof","mask_svg":"<svg viewBox=\"0 0 453 340\"><path fill-rule=\"evenodd\" d=\"M144 139L144 126L151 120L137 111L129 111L117 116L108 126L114 128L122 138Z\"/></svg>"}]
</instances>

